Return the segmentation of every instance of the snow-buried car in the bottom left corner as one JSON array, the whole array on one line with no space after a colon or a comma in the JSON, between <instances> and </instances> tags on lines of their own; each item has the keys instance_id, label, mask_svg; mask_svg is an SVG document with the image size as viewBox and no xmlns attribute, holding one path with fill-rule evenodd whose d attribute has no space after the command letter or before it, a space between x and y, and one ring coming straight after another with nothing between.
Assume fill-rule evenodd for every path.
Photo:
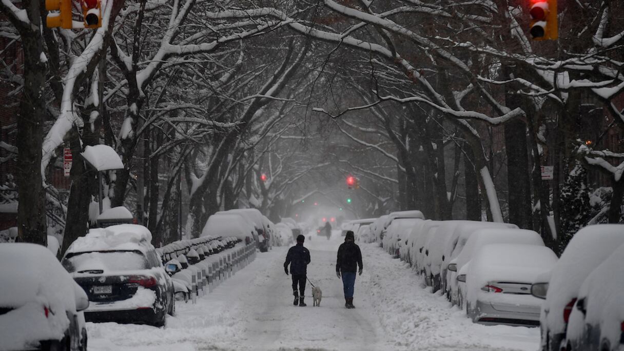
<instances>
[{"instance_id":1,"label":"snow-buried car in the bottom left corner","mask_svg":"<svg viewBox=\"0 0 624 351\"><path fill-rule=\"evenodd\" d=\"M87 294L42 245L0 244L0 350L87 350Z\"/></svg>"}]
</instances>

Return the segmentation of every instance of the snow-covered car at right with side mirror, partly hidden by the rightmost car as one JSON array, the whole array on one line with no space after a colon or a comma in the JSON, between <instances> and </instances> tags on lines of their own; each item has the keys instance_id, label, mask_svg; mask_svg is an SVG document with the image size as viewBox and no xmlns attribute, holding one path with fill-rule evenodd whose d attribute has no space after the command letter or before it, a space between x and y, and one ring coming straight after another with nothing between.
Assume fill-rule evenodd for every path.
<instances>
[{"instance_id":1,"label":"snow-covered car at right with side mirror, partly hidden by the rightmost car","mask_svg":"<svg viewBox=\"0 0 624 351\"><path fill-rule=\"evenodd\" d=\"M572 237L548 281L540 314L541 349L559 351L565 346L568 319L587 276L615 249L624 244L624 225L597 224L584 227Z\"/></svg>"}]
</instances>

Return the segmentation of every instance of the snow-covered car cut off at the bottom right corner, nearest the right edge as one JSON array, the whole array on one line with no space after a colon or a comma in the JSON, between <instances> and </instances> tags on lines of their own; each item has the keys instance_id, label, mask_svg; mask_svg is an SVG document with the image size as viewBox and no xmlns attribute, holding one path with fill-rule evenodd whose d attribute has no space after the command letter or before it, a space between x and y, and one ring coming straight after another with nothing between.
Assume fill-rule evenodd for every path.
<instances>
[{"instance_id":1,"label":"snow-covered car cut off at the bottom right corner, nearest the right edge","mask_svg":"<svg viewBox=\"0 0 624 351\"><path fill-rule=\"evenodd\" d=\"M624 349L624 244L590 273L568 320L566 350Z\"/></svg>"}]
</instances>

